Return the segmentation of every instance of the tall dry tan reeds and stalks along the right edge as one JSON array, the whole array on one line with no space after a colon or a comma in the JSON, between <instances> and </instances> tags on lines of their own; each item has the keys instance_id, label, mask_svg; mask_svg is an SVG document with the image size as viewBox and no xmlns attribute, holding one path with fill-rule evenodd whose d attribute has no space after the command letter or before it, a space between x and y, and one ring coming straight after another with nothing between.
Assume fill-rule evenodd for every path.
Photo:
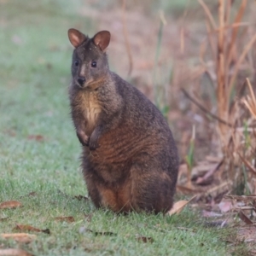
<instances>
[{"instance_id":1,"label":"tall dry tan reeds and stalks along the right edge","mask_svg":"<svg viewBox=\"0 0 256 256\"><path fill-rule=\"evenodd\" d=\"M221 193L238 186L241 186L241 194L255 193L256 105L253 86L248 79L246 82L246 78L253 80L255 75L253 46L256 33L252 33L252 24L245 15L254 3L242 0L237 6L235 1L218 0L218 9L213 12L212 6L203 0L198 2L206 16L207 40L201 44L201 69L195 78L198 75L201 79L207 74L216 103L205 106L198 91L195 96L190 96L186 90L183 92L205 115L216 121L212 127L212 139L218 148L215 154L224 162L218 167L221 173L215 185L226 183ZM250 96L246 96L246 84ZM215 109L215 113L211 109Z\"/></svg>"}]
</instances>

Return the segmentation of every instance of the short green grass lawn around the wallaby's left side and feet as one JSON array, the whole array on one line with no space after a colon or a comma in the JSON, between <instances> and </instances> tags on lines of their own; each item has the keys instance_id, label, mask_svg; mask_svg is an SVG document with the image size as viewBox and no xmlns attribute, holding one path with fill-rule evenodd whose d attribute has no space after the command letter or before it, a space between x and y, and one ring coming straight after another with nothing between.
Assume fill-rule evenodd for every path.
<instances>
[{"instance_id":1,"label":"short green grass lawn around the wallaby's left side and feet","mask_svg":"<svg viewBox=\"0 0 256 256\"><path fill-rule=\"evenodd\" d=\"M0 239L34 255L226 255L224 230L207 229L189 210L172 218L96 210L79 170L80 146L69 117L67 86L72 47L67 29L93 32L77 15L81 1L0 2L0 233L16 224L49 229L29 244ZM74 4L75 3L75 4ZM44 140L30 140L40 135ZM28 196L30 192L35 195ZM85 218L91 214L91 218ZM55 217L73 216L73 223ZM113 236L94 232L113 232ZM180 227L189 230L178 229ZM137 236L152 237L143 243Z\"/></svg>"}]
</instances>

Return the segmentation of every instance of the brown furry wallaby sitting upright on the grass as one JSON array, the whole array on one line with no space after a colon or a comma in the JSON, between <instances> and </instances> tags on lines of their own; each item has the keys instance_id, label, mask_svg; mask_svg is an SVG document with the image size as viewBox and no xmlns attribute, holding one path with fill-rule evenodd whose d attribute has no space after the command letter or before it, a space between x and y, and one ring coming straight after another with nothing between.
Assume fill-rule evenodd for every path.
<instances>
[{"instance_id":1,"label":"brown furry wallaby sitting upright on the grass","mask_svg":"<svg viewBox=\"0 0 256 256\"><path fill-rule=\"evenodd\" d=\"M83 145L91 200L114 212L166 212L177 182L177 148L160 111L108 68L110 33L68 31L75 47L69 97Z\"/></svg>"}]
</instances>

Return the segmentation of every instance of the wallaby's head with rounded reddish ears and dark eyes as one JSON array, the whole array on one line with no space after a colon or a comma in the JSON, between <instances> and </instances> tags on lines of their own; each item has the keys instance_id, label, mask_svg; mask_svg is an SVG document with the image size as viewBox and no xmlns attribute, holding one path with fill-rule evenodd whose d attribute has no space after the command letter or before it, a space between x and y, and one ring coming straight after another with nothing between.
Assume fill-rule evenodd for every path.
<instances>
[{"instance_id":1,"label":"wallaby's head with rounded reddish ears and dark eyes","mask_svg":"<svg viewBox=\"0 0 256 256\"><path fill-rule=\"evenodd\" d=\"M93 38L86 37L78 30L68 30L68 38L74 46L72 75L73 82L83 89L97 84L108 73L106 49L110 32L97 32Z\"/></svg>"}]
</instances>

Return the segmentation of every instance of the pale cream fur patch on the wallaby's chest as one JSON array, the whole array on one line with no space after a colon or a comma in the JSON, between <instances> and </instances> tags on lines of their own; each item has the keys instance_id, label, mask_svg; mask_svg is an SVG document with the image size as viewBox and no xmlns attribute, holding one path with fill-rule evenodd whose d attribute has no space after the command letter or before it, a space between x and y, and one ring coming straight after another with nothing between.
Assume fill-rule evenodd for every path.
<instances>
[{"instance_id":1,"label":"pale cream fur patch on the wallaby's chest","mask_svg":"<svg viewBox=\"0 0 256 256\"><path fill-rule=\"evenodd\" d=\"M96 127L96 121L102 108L97 100L96 91L84 91L81 97L83 102L81 113L84 115L85 119L85 133L87 136L90 136L91 132Z\"/></svg>"}]
</instances>

